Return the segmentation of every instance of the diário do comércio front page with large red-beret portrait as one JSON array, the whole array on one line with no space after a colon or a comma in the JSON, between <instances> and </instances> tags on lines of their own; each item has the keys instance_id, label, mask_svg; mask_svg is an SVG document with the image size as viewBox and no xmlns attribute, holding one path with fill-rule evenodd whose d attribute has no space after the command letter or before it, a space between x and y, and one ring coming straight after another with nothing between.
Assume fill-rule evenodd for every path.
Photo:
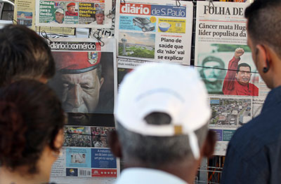
<instances>
[{"instance_id":1,"label":"di\u00e1rio do com\u00e9rcio front page with large red-beret portrait","mask_svg":"<svg viewBox=\"0 0 281 184\"><path fill-rule=\"evenodd\" d=\"M119 160L108 148L115 129L117 92L115 39L56 38L49 43L56 64L49 85L67 113L63 155L53 164L55 183L113 183Z\"/></svg>"}]
</instances>

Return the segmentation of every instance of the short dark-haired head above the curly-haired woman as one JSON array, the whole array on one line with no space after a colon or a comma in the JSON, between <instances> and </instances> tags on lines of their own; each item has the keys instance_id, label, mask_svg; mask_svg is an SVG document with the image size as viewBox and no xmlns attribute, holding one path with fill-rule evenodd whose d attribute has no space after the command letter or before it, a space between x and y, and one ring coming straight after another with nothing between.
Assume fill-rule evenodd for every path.
<instances>
[{"instance_id":1,"label":"short dark-haired head above the curly-haired woman","mask_svg":"<svg viewBox=\"0 0 281 184\"><path fill-rule=\"evenodd\" d=\"M0 29L0 86L22 78L49 79L55 74L55 62L48 44L22 25Z\"/></svg>"}]
</instances>

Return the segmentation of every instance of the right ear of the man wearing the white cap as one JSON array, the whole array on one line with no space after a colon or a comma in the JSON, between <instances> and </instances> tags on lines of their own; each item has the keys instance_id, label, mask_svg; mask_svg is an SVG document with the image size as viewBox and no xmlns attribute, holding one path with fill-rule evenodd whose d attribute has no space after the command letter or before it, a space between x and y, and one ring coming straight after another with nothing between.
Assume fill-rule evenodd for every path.
<instances>
[{"instance_id":1,"label":"right ear of the man wearing the white cap","mask_svg":"<svg viewBox=\"0 0 281 184\"><path fill-rule=\"evenodd\" d=\"M211 130L208 131L206 141L202 148L202 154L204 157L211 157L214 154L216 145L216 132Z\"/></svg>"}]
</instances>

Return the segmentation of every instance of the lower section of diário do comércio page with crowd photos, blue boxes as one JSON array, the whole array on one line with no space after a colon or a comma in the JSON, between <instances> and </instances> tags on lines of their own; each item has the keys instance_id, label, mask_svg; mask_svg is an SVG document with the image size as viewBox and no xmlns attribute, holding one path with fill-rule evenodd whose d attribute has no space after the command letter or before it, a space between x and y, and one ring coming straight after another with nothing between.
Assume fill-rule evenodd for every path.
<instances>
[{"instance_id":1,"label":"lower section of di\u00e1rio do com\u00e9rcio page with crowd photos, blue boxes","mask_svg":"<svg viewBox=\"0 0 281 184\"><path fill-rule=\"evenodd\" d=\"M51 182L114 183L120 169L107 143L107 134L113 129L65 126L63 154L53 164Z\"/></svg>"}]
</instances>

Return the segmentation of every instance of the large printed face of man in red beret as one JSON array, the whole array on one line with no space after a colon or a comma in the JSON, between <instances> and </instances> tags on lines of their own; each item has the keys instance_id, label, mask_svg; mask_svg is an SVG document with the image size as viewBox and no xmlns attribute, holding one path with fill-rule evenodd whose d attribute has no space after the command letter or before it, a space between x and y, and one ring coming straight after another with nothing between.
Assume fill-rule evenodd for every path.
<instances>
[{"instance_id":1,"label":"large printed face of man in red beret","mask_svg":"<svg viewBox=\"0 0 281 184\"><path fill-rule=\"evenodd\" d=\"M100 52L53 52L57 75L55 91L60 97L69 118L85 122L87 114L95 113L100 99L101 76Z\"/></svg>"}]
</instances>

